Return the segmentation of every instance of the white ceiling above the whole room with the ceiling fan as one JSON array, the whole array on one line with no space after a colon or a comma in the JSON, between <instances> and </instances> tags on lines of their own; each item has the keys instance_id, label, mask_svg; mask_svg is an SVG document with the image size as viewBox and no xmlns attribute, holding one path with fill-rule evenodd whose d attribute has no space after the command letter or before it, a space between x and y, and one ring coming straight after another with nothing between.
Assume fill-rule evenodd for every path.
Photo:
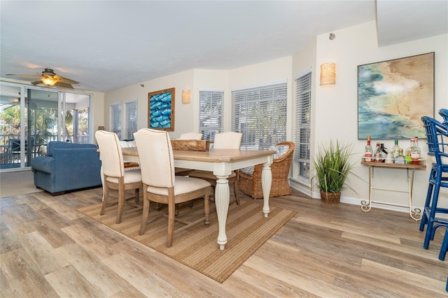
<instances>
[{"instance_id":1,"label":"white ceiling above the whole room with the ceiling fan","mask_svg":"<svg viewBox=\"0 0 448 298\"><path fill-rule=\"evenodd\" d=\"M448 33L447 0L2 0L0 13L1 77L50 68L100 92L293 55L314 36L372 20L379 46Z\"/></svg>"}]
</instances>

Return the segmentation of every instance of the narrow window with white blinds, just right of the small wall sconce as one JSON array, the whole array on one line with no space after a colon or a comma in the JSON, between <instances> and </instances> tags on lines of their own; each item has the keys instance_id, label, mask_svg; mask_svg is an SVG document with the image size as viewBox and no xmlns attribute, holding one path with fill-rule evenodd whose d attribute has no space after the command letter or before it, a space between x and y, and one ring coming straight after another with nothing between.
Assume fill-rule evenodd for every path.
<instances>
[{"instance_id":1,"label":"narrow window with white blinds, just right of the small wall sconce","mask_svg":"<svg viewBox=\"0 0 448 298\"><path fill-rule=\"evenodd\" d=\"M224 92L200 90L199 132L202 139L214 141L215 134L223 132Z\"/></svg>"}]
</instances>

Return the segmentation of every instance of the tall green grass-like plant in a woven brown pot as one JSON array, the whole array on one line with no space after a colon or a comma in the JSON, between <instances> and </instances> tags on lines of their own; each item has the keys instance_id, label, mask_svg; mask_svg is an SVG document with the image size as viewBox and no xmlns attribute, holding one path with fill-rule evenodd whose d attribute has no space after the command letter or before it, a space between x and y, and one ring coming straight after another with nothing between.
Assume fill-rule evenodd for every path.
<instances>
[{"instance_id":1,"label":"tall green grass-like plant in a woven brown pot","mask_svg":"<svg viewBox=\"0 0 448 298\"><path fill-rule=\"evenodd\" d=\"M346 145L336 141L330 144L319 146L316 158L313 159L314 169L316 169L316 185L321 191L321 201L324 204L338 204L341 191L346 185L346 178L353 169L350 163L352 145Z\"/></svg>"}]
</instances>

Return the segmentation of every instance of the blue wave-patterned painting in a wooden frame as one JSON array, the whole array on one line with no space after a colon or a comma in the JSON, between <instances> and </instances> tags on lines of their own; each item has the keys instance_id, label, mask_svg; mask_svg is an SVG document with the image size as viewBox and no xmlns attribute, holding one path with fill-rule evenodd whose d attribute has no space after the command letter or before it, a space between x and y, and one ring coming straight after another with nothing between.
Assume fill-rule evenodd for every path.
<instances>
[{"instance_id":1,"label":"blue wave-patterned painting in a wooden frame","mask_svg":"<svg viewBox=\"0 0 448 298\"><path fill-rule=\"evenodd\" d=\"M174 132L175 88L148 93L148 127Z\"/></svg>"}]
</instances>

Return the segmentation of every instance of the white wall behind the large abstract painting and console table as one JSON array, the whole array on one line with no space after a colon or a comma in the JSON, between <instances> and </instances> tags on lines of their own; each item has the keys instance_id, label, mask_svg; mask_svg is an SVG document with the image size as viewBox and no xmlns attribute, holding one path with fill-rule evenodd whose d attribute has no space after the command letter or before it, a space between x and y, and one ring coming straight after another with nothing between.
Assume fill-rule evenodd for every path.
<instances>
[{"instance_id":1,"label":"white wall behind the large abstract painting and console table","mask_svg":"<svg viewBox=\"0 0 448 298\"><path fill-rule=\"evenodd\" d=\"M356 154L353 162L356 162L355 173L368 181L367 167L360 166L360 157L363 155L365 140L358 141L358 90L357 90L357 66L373 62L381 62L388 59L397 59L419 55L426 52L435 52L435 115L441 120L437 111L448 106L447 92L447 34L425 38L384 48L377 46L376 22L368 22L355 27L333 31L336 38L330 41L328 34L322 34L316 38L316 89L313 105L316 108L314 114L314 126L316 139L314 147L330 139L351 142L354 144ZM324 62L336 63L336 85L318 85L318 67ZM374 143L375 140L372 142ZM387 148L393 146L393 140L383 140ZM422 158L426 158L426 140L421 140ZM381 141L382 143L382 141ZM407 148L409 141L400 140L400 146ZM416 171L414 178L413 205L423 206L428 189L429 169ZM397 169L375 169L374 183L380 187L407 189L406 171ZM360 194L360 197L368 197L368 185L362 180L351 179L351 185ZM381 201L407 204L407 194L395 192L383 192L374 190L374 199ZM318 196L318 194L317 194ZM342 201L351 201L359 204L360 199L346 190L342 193ZM444 190L442 196L447 197Z\"/></svg>"}]
</instances>

